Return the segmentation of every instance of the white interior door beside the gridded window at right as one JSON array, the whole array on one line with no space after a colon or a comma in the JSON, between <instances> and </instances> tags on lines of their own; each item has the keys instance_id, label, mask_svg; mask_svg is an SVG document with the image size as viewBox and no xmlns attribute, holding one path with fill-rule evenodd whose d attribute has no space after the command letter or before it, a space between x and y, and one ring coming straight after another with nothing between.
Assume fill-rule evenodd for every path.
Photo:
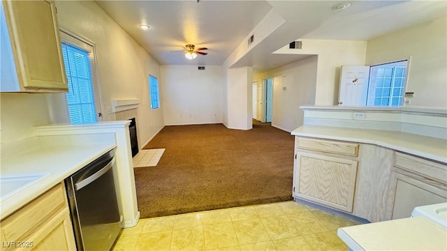
<instances>
[{"instance_id":1,"label":"white interior door beside the gridded window at right","mask_svg":"<svg viewBox=\"0 0 447 251\"><path fill-rule=\"evenodd\" d=\"M342 66L339 105L366 105L369 66Z\"/></svg>"}]
</instances>

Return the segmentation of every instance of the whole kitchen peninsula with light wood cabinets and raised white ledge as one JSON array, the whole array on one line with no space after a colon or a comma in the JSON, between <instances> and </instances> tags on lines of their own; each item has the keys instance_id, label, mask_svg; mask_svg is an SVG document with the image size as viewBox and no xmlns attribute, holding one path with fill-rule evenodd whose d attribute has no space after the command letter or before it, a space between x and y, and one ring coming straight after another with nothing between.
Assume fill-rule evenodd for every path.
<instances>
[{"instance_id":1,"label":"whole kitchen peninsula with light wood cabinets and raised white ledge","mask_svg":"<svg viewBox=\"0 0 447 251\"><path fill-rule=\"evenodd\" d=\"M300 107L293 197L371 222L447 201L447 111Z\"/></svg>"}]
</instances>

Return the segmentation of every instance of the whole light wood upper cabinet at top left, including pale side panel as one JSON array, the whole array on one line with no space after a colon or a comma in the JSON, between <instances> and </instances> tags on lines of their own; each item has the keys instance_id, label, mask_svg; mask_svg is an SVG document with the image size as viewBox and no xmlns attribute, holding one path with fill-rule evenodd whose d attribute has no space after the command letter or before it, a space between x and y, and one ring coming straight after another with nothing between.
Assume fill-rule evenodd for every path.
<instances>
[{"instance_id":1,"label":"whole light wood upper cabinet at top left, including pale side panel","mask_svg":"<svg viewBox=\"0 0 447 251\"><path fill-rule=\"evenodd\" d=\"M1 3L0 90L68 91L54 1Z\"/></svg>"}]
</instances>

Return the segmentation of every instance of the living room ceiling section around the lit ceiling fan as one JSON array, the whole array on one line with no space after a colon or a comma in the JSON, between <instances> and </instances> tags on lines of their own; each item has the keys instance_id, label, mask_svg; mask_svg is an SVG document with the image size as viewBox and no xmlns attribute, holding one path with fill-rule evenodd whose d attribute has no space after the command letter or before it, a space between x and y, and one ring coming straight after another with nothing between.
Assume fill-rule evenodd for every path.
<instances>
[{"instance_id":1,"label":"living room ceiling section around the lit ceiling fan","mask_svg":"<svg viewBox=\"0 0 447 251\"><path fill-rule=\"evenodd\" d=\"M221 65L272 8L267 1L96 1L161 64ZM138 25L148 24L142 31ZM189 61L186 44L209 48Z\"/></svg>"}]
</instances>

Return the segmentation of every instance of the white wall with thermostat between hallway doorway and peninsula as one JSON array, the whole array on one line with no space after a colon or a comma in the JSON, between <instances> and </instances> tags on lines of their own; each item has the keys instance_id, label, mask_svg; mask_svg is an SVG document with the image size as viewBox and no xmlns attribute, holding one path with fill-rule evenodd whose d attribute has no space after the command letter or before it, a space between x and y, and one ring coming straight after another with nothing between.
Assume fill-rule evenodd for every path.
<instances>
[{"instance_id":1,"label":"white wall with thermostat between hallway doorway and peninsula","mask_svg":"<svg viewBox=\"0 0 447 251\"><path fill-rule=\"evenodd\" d=\"M318 56L309 56L256 76L273 77L272 126L291 132L302 125L304 112L300 105L315 103L317 63Z\"/></svg>"}]
</instances>

